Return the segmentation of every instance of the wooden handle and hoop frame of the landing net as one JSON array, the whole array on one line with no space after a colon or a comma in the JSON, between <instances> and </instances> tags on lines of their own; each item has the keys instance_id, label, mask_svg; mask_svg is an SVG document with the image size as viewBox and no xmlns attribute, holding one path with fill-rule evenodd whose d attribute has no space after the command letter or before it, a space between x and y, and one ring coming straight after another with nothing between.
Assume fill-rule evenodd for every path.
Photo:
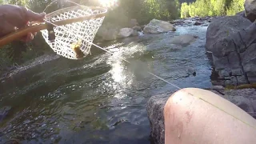
<instances>
[{"instance_id":1,"label":"wooden handle and hoop frame of the landing net","mask_svg":"<svg viewBox=\"0 0 256 144\"><path fill-rule=\"evenodd\" d=\"M47 14L46 18L53 17L55 14L62 13L63 11L66 11L66 10L76 9L77 7L79 7L79 6L68 7L68 8L64 8L62 10L54 11L53 13ZM106 11L107 11L106 9L103 9L101 7L96 7L96 6L86 6L86 7L90 7L90 9L93 9L93 10L101 10L102 13L86 15L86 16L82 16L82 17L78 17L78 18L70 18L70 19L55 21L52 23L54 23L54 25L56 25L56 26L62 26L62 25L73 23L73 22L82 22L82 21L90 20L90 19L94 19L94 18L101 18L106 15ZM5 37L0 39L0 49L2 48L2 46L5 46L6 44L13 42L14 40L17 40L18 38L22 38L23 36L25 36L28 33L34 33L34 32L38 32L40 30L46 30L46 29L47 29L47 24L43 23L43 24L39 24L36 26L27 26L26 28L17 30L16 32L13 32L11 34L7 34Z\"/></svg>"}]
</instances>

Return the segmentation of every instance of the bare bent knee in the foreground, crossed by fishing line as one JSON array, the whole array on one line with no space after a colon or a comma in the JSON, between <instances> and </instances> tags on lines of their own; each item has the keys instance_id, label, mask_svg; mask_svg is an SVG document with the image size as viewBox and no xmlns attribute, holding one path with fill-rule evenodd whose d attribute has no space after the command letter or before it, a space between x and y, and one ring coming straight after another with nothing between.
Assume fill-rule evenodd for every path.
<instances>
[{"instance_id":1,"label":"bare bent knee in the foreground, crossed by fishing line","mask_svg":"<svg viewBox=\"0 0 256 144\"><path fill-rule=\"evenodd\" d=\"M164 119L166 144L256 142L256 120L208 90L178 90L166 102Z\"/></svg>"}]
</instances>

